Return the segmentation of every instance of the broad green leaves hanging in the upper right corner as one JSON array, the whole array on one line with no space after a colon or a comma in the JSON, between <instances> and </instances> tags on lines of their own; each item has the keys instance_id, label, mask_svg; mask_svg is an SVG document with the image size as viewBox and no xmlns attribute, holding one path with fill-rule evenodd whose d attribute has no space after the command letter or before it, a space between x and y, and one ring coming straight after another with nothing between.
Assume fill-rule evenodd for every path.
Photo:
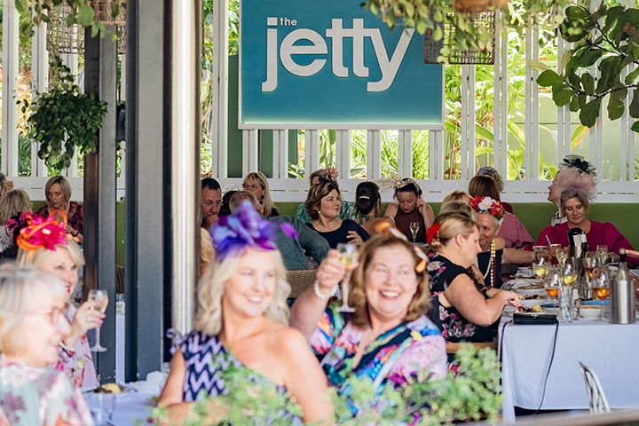
<instances>
[{"instance_id":1,"label":"broad green leaves hanging in the upper right corner","mask_svg":"<svg viewBox=\"0 0 639 426\"><path fill-rule=\"evenodd\" d=\"M557 70L540 64L531 67L540 70L540 86L552 88L552 99L557 106L570 104L573 112L580 113L580 122L593 127L608 98L608 117L618 120L626 110L625 99L633 91L628 114L639 119L639 10L611 5L605 2L596 12L581 6L566 9L566 20L560 27L561 36L574 43L565 51ZM598 70L598 75L597 75ZM632 130L639 132L639 120Z\"/></svg>"}]
</instances>

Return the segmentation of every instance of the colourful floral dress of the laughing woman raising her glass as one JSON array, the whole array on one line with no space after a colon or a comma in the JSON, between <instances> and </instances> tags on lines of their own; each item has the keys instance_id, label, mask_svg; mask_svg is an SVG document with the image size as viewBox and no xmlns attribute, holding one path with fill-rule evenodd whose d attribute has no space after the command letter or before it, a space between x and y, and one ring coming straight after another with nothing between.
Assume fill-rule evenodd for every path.
<instances>
[{"instance_id":1,"label":"colourful floral dress of the laughing woman raising her glass","mask_svg":"<svg viewBox=\"0 0 639 426\"><path fill-rule=\"evenodd\" d=\"M375 381L386 363L392 367L381 386L388 381L400 386L424 368L429 368L434 377L446 376L446 342L425 316L402 322L377 337L367 346L359 364L353 367L363 333L342 312L336 311L338 306L327 307L309 341L316 354L324 355L321 366L331 385L341 388L350 375Z\"/></svg>"}]
</instances>

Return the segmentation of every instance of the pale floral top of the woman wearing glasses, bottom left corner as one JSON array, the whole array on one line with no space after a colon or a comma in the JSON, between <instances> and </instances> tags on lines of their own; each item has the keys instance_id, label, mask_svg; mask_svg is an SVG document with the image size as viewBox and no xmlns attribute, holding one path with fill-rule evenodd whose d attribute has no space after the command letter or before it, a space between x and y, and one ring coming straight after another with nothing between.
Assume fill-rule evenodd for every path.
<instances>
[{"instance_id":1,"label":"pale floral top of the woman wearing glasses, bottom left corner","mask_svg":"<svg viewBox=\"0 0 639 426\"><path fill-rule=\"evenodd\" d=\"M64 373L0 356L0 426L91 426L80 390Z\"/></svg>"}]
</instances>

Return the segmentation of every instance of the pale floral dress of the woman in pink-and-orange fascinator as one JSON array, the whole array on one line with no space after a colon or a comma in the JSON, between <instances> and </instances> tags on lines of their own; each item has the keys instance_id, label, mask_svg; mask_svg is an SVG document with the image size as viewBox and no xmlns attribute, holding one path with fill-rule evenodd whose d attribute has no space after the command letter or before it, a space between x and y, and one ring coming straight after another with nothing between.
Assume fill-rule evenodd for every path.
<instances>
[{"instance_id":1,"label":"pale floral dress of the woman in pink-and-orange fascinator","mask_svg":"<svg viewBox=\"0 0 639 426\"><path fill-rule=\"evenodd\" d=\"M75 309L74 305L67 304L65 317L67 317L69 324L73 321L76 311L77 309ZM55 369L64 371L76 388L98 386L98 375L86 335L83 335L75 342L74 349L75 352L70 353L62 349L62 347L59 348L59 361Z\"/></svg>"}]
</instances>

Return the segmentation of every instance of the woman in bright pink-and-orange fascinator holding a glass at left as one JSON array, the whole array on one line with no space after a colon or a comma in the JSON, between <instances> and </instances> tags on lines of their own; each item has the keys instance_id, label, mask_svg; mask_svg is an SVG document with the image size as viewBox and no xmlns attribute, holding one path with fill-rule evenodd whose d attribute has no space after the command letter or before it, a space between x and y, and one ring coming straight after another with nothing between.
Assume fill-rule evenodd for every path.
<instances>
[{"instance_id":1,"label":"woman in bright pink-and-orange fascinator holding a glass at left","mask_svg":"<svg viewBox=\"0 0 639 426\"><path fill-rule=\"evenodd\" d=\"M98 386L86 333L100 327L105 315L95 311L96 302L85 302L77 309L71 304L71 295L78 282L78 270L84 264L84 255L74 237L67 233L64 213L59 210L52 213L55 217L31 216L30 213L20 217L20 222L26 222L27 226L20 230L16 239L19 247L17 264L35 266L65 283L68 295L65 317L71 325L71 334L59 343L59 363L56 368L67 372L78 388Z\"/></svg>"}]
</instances>

